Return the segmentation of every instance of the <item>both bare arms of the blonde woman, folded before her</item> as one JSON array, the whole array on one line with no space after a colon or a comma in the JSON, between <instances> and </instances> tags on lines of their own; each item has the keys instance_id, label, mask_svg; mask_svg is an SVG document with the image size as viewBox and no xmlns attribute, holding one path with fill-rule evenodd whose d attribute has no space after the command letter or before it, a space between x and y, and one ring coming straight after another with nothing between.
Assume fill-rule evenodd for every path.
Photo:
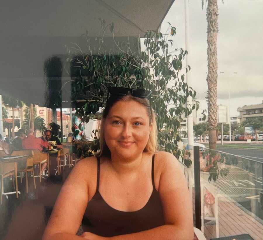
<instances>
[{"instance_id":1,"label":"both bare arms of the blonde woman, folded before her","mask_svg":"<svg viewBox=\"0 0 263 240\"><path fill-rule=\"evenodd\" d=\"M190 194L184 174L179 163L169 153L162 154L165 161L162 164L159 189L162 201L165 225L146 231L125 234L121 236L102 237L90 232L76 236L88 202L88 183L83 180L90 171L87 161L79 162L72 170L63 185L54 206L51 218L42 240L59 239L193 239L193 215ZM77 194L76 194L77 193ZM66 199L66 201L65 201Z\"/></svg>"}]
</instances>

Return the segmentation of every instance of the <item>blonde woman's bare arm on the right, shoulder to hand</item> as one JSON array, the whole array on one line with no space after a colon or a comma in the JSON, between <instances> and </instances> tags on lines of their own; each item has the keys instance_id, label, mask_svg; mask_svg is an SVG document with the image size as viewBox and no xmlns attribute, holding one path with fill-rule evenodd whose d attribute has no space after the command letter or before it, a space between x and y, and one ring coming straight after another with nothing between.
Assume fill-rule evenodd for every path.
<instances>
[{"instance_id":1,"label":"blonde woman's bare arm on the right, shoulder to hand","mask_svg":"<svg viewBox=\"0 0 263 240\"><path fill-rule=\"evenodd\" d=\"M110 239L184 239L193 240L192 202L184 173L177 159L170 153L160 152L158 158L165 159L159 182L159 194L163 205L165 225L147 231L114 236ZM86 235L85 235L86 234ZM91 233L85 233L85 239L102 239Z\"/></svg>"}]
</instances>

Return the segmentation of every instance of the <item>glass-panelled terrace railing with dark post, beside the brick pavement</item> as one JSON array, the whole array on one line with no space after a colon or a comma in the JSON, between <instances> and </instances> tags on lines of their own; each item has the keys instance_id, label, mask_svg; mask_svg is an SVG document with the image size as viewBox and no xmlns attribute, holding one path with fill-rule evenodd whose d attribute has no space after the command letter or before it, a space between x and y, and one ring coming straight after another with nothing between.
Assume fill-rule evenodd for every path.
<instances>
[{"instance_id":1,"label":"glass-panelled terrace railing with dark post, beside the brick pavement","mask_svg":"<svg viewBox=\"0 0 263 240\"><path fill-rule=\"evenodd\" d=\"M190 193L195 193L195 226L201 226L207 239L237 234L262 239L263 163L212 149L186 151L193 162L184 171Z\"/></svg>"}]
</instances>

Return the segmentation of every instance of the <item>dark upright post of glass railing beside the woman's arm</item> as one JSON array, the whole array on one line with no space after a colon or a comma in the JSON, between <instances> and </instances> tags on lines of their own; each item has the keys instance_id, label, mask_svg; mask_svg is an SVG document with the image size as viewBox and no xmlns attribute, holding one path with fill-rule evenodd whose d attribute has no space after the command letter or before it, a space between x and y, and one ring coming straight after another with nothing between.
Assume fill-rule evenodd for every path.
<instances>
[{"instance_id":1,"label":"dark upright post of glass railing beside the woman's arm","mask_svg":"<svg viewBox=\"0 0 263 240\"><path fill-rule=\"evenodd\" d=\"M195 227L201 230L201 186L199 147L194 146Z\"/></svg>"}]
</instances>

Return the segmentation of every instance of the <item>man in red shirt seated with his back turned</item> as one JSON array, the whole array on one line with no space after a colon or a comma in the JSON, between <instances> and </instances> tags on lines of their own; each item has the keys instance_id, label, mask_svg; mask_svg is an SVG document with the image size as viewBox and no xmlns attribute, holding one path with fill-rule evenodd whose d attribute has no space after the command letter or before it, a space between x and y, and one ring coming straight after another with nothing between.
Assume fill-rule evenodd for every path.
<instances>
[{"instance_id":1,"label":"man in red shirt seated with his back turned","mask_svg":"<svg viewBox=\"0 0 263 240\"><path fill-rule=\"evenodd\" d=\"M43 141L41 138L35 137L33 129L27 129L26 131L27 138L22 140L22 147L23 149L39 149L40 151L43 150L43 147L48 147L48 142ZM46 168L47 163L44 163L41 168L41 172L44 171Z\"/></svg>"}]
</instances>

